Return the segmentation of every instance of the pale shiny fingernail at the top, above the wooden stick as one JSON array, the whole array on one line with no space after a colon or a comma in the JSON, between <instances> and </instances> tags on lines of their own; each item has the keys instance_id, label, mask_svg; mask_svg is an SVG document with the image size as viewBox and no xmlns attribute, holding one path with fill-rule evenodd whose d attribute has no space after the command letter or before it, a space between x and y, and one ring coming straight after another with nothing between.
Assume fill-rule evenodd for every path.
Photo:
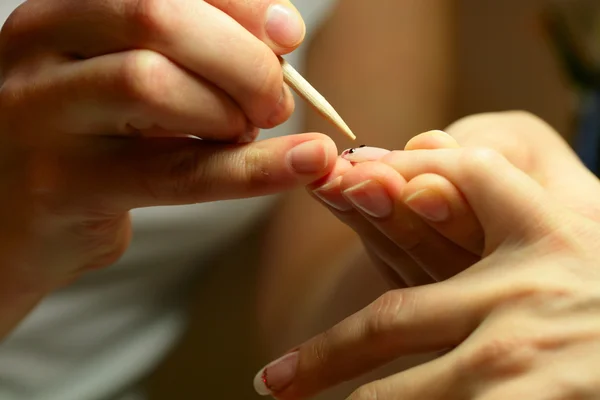
<instances>
[{"instance_id":1,"label":"pale shiny fingernail at the top, above the wooden stick","mask_svg":"<svg viewBox=\"0 0 600 400\"><path fill-rule=\"evenodd\" d=\"M274 4L267 11L267 35L281 47L294 47L304 39L306 26L297 10Z\"/></svg>"}]
</instances>

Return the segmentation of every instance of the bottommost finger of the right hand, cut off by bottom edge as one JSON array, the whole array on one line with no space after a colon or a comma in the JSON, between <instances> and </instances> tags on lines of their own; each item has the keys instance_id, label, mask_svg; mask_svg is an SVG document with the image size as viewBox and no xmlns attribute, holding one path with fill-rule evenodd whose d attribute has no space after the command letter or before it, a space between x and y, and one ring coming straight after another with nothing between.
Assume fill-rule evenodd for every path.
<instances>
[{"instance_id":1,"label":"bottommost finger of the right hand, cut off by bottom edge","mask_svg":"<svg viewBox=\"0 0 600 400\"><path fill-rule=\"evenodd\" d=\"M600 388L598 375L588 372L594 371L597 364L595 354L598 353L594 351L600 348L597 342L584 340L551 352L541 351L544 354L538 357L534 369L528 368L533 356L524 351L523 346L509 350L508 354L499 354L506 349L498 341L488 340L488 351L481 351L480 356L465 355L467 353L463 350L466 348L461 347L434 361L367 384L348 399L391 400L401 394L402 399L408 400L445 400L449 397L465 400L556 400L586 397L589 393L597 393ZM488 367L490 357L494 358L491 368ZM483 361L485 358L487 363ZM578 368L565 368L573 365L574 359L578 360Z\"/></svg>"}]
</instances>

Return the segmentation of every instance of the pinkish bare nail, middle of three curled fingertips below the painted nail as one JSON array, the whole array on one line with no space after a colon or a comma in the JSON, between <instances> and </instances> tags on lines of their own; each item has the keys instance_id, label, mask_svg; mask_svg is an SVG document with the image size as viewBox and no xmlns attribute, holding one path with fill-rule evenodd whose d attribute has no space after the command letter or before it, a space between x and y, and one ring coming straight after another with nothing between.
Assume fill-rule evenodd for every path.
<instances>
[{"instance_id":1,"label":"pinkish bare nail, middle of three curled fingertips below the painted nail","mask_svg":"<svg viewBox=\"0 0 600 400\"><path fill-rule=\"evenodd\" d=\"M387 190L376 181L365 181L346 189L344 197L354 207L375 218L389 217L394 207Z\"/></svg>"}]
</instances>

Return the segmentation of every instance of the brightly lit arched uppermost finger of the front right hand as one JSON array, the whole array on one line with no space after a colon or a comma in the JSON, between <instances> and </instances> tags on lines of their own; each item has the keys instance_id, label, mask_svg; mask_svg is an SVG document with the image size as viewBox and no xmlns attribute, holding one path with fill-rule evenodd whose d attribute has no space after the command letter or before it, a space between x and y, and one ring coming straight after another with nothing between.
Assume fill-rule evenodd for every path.
<instances>
[{"instance_id":1,"label":"brightly lit arched uppermost finger of the front right hand","mask_svg":"<svg viewBox=\"0 0 600 400\"><path fill-rule=\"evenodd\" d=\"M560 209L543 189L486 148L393 152L382 162L408 180L432 173L463 193L485 232L486 251L511 240L537 240L560 225Z\"/></svg>"}]
</instances>

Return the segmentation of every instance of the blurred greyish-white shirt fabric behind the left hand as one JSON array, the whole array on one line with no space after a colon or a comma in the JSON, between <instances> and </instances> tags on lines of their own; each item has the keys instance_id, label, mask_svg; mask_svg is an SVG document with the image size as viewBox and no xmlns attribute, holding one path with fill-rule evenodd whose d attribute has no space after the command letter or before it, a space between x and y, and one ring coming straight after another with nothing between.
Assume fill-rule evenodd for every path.
<instances>
[{"instance_id":1,"label":"blurred greyish-white shirt fabric behind the left hand","mask_svg":"<svg viewBox=\"0 0 600 400\"><path fill-rule=\"evenodd\" d=\"M294 4L310 32L332 2ZM20 3L0 0L0 23ZM300 49L286 58L301 70L302 57ZM262 138L298 132L299 114ZM181 334L186 282L269 204L260 198L136 210L134 240L118 265L46 299L0 345L0 399L97 400L135 384Z\"/></svg>"}]
</instances>

